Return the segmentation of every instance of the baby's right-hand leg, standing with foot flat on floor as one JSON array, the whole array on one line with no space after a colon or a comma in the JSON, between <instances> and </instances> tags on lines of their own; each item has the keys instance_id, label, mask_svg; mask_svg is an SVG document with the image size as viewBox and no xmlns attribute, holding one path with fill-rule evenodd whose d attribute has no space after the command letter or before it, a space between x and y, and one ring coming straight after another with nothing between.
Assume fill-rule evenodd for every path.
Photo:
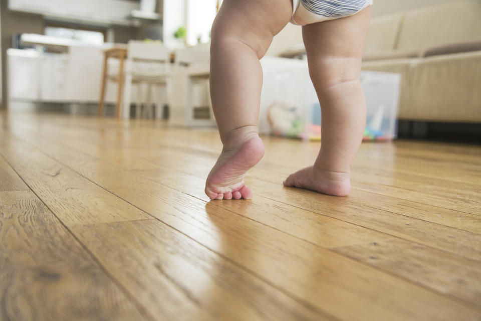
<instances>
[{"instance_id":1,"label":"baby's right-hand leg, standing with foot flat on floor","mask_svg":"<svg viewBox=\"0 0 481 321\"><path fill-rule=\"evenodd\" d=\"M370 7L356 15L303 27L309 72L322 110L321 150L314 166L289 176L285 186L345 196L362 140L366 103L359 73Z\"/></svg>"}]
</instances>

